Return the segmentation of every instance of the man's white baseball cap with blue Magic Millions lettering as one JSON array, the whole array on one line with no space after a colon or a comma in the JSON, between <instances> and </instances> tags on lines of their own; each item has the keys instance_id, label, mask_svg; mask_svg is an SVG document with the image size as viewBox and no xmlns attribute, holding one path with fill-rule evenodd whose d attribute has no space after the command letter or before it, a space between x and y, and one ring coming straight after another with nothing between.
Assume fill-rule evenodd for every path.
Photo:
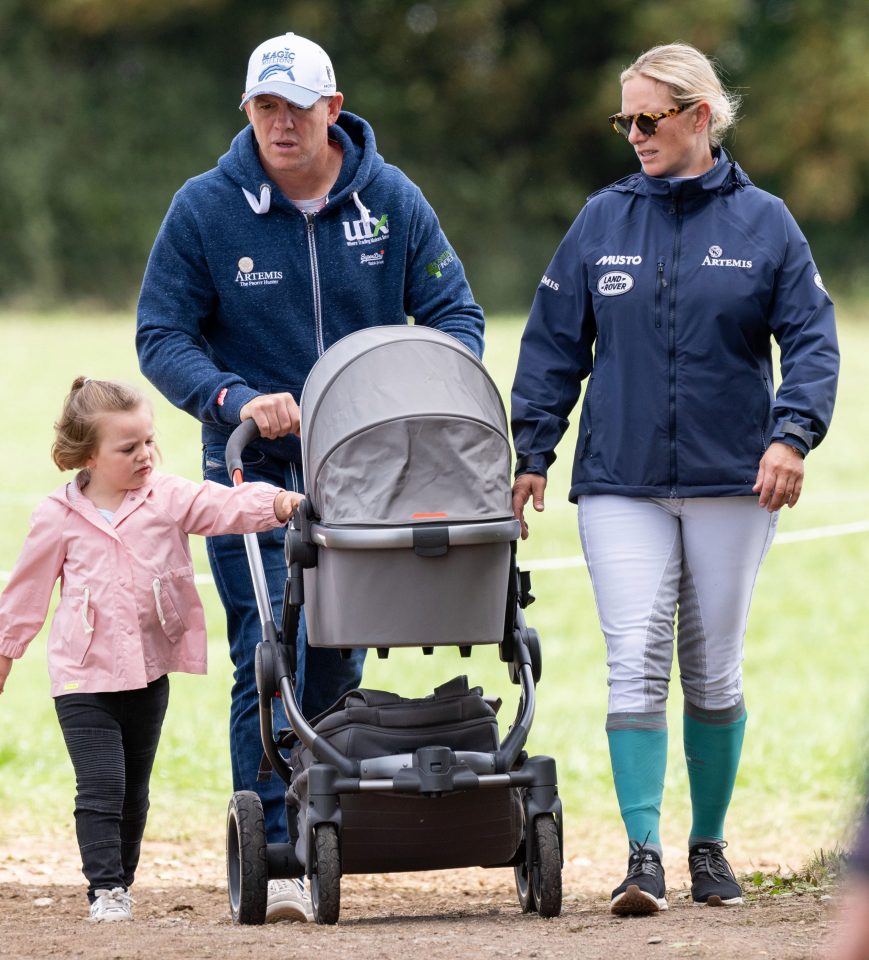
<instances>
[{"instance_id":1,"label":"man's white baseball cap with blue Magic Millions lettering","mask_svg":"<svg viewBox=\"0 0 869 960\"><path fill-rule=\"evenodd\" d=\"M261 93L283 97L299 107L312 107L320 97L335 94L332 61L322 47L304 37L294 33L272 37L250 55L239 110Z\"/></svg>"}]
</instances>

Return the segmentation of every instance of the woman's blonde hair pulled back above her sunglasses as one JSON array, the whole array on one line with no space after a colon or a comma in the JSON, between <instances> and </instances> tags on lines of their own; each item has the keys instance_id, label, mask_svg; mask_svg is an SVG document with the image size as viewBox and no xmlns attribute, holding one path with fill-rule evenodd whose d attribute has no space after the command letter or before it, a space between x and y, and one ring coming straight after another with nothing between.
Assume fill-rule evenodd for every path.
<instances>
[{"instance_id":1,"label":"woman's blonde hair pulled back above her sunglasses","mask_svg":"<svg viewBox=\"0 0 869 960\"><path fill-rule=\"evenodd\" d=\"M652 47L622 71L622 85L634 77L649 77L666 84L680 107L692 107L705 101L709 118L709 142L721 143L724 134L736 123L741 97L726 90L709 58L688 43L668 43Z\"/></svg>"}]
</instances>

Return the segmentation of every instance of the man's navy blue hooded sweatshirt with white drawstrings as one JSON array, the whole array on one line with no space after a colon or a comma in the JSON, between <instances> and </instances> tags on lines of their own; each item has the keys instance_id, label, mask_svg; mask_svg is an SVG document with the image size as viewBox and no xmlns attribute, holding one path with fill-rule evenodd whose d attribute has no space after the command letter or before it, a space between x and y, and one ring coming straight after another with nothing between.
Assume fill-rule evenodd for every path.
<instances>
[{"instance_id":1,"label":"man's navy blue hooded sweatshirt with white drawstrings","mask_svg":"<svg viewBox=\"0 0 869 960\"><path fill-rule=\"evenodd\" d=\"M361 118L341 113L329 135L343 163L316 215L269 179L247 126L178 191L160 228L139 298L139 363L202 422L205 442L225 438L258 394L298 399L320 354L362 327L411 316L482 354L482 310L419 188L383 161ZM267 443L299 460L295 438Z\"/></svg>"}]
</instances>

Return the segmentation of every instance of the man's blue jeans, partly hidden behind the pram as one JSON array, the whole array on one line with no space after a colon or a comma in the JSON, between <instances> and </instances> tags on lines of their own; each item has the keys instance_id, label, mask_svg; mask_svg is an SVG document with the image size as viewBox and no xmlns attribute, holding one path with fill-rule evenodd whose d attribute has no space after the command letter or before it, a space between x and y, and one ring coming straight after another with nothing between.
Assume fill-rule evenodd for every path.
<instances>
[{"instance_id":1,"label":"man's blue jeans, partly hidden behind the pram","mask_svg":"<svg viewBox=\"0 0 869 960\"><path fill-rule=\"evenodd\" d=\"M226 446L208 443L203 449L203 475L231 486L226 470ZM302 490L302 470L297 464L270 457L250 446L242 456L245 480L260 480L285 490ZM284 528L257 534L263 570L268 582L275 623L280 628L281 607L287 567L284 560ZM208 559L217 592L226 610L229 655L235 666L235 683L229 711L229 751L234 790L254 790L265 812L266 839L269 843L287 840L285 787L273 774L258 782L263 747L259 723L259 694L256 689L254 656L262 640L262 625L250 577L244 539L230 534L209 537ZM337 650L307 646L304 616L300 618L296 638L296 699L304 715L311 719L330 707L348 690L359 686L365 650L355 650L344 659ZM279 700L274 702L274 729L288 726Z\"/></svg>"}]
</instances>

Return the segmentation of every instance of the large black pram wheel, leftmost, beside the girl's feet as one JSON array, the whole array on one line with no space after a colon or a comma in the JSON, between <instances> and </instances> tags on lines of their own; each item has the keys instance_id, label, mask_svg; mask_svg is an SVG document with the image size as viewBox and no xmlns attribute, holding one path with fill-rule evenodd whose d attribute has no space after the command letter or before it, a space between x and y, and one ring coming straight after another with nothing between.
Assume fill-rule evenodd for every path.
<instances>
[{"instance_id":1,"label":"large black pram wheel, leftmost, beside the girl's feet","mask_svg":"<svg viewBox=\"0 0 869 960\"><path fill-rule=\"evenodd\" d=\"M240 790L229 801L226 879L233 923L265 923L268 906L266 828L262 801L252 790Z\"/></svg>"}]
</instances>

